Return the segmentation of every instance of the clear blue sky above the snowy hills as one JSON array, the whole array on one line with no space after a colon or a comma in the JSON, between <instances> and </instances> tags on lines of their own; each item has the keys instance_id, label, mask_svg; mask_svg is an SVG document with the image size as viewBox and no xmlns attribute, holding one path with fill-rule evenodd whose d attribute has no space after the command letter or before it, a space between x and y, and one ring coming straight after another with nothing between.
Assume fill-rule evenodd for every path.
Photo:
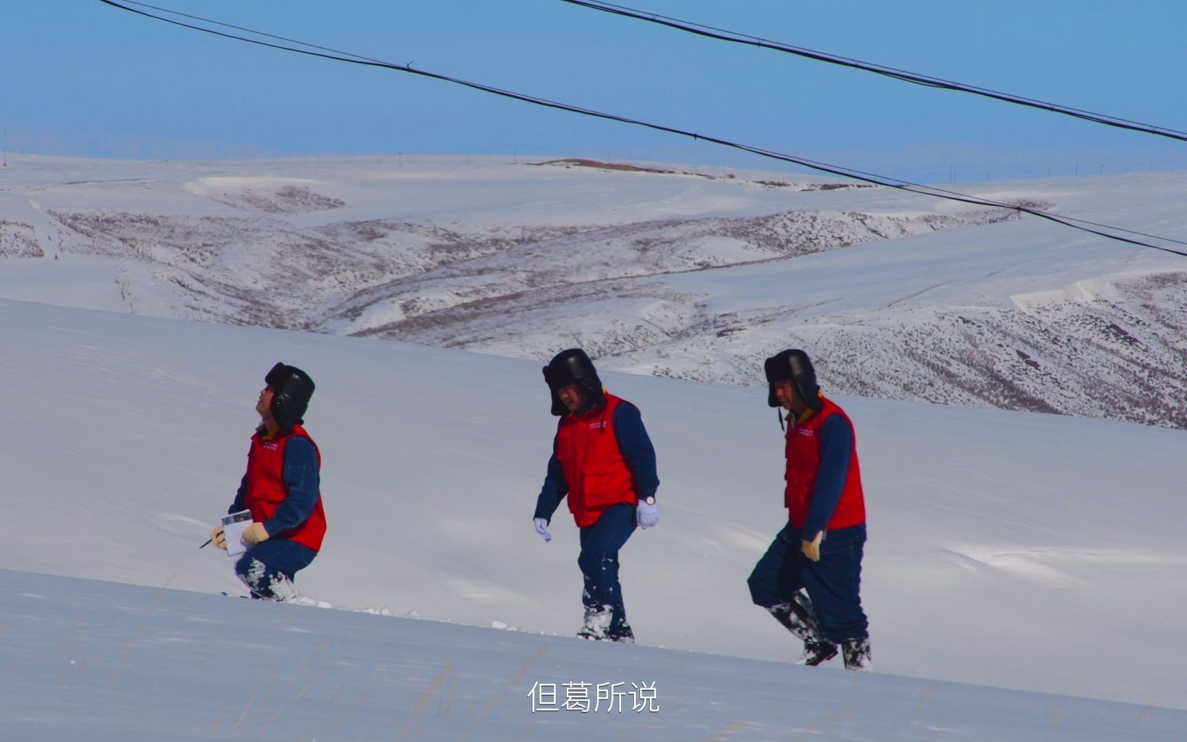
<instances>
[{"instance_id":1,"label":"clear blue sky above the snowy hills","mask_svg":"<svg viewBox=\"0 0 1187 742\"><path fill-rule=\"evenodd\" d=\"M697 38L558 0L159 0L281 36L921 180L1187 167L1187 145ZM633 7L1187 129L1187 2L637 0ZM466 153L781 169L668 134L177 28L7 4L9 151Z\"/></svg>"}]
</instances>

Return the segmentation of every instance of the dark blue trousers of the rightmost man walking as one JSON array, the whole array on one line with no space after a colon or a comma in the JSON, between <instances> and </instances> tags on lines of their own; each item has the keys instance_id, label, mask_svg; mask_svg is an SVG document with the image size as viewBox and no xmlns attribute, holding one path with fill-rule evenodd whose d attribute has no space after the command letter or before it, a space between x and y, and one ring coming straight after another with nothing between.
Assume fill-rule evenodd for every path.
<instances>
[{"instance_id":1,"label":"dark blue trousers of the rightmost man walking","mask_svg":"<svg viewBox=\"0 0 1187 742\"><path fill-rule=\"evenodd\" d=\"M750 597L755 604L770 608L791 602L804 588L829 641L865 639L869 620L859 595L865 525L825 533L819 562L800 551L801 535L791 524L779 532L750 573Z\"/></svg>"}]
</instances>

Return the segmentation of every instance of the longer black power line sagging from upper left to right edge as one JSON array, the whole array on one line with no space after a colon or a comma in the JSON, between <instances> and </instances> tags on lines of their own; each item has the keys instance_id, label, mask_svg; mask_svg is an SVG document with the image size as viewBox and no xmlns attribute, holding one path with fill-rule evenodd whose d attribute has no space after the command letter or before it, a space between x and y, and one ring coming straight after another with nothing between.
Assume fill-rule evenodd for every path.
<instances>
[{"instance_id":1,"label":"longer black power line sagging from upper left to right edge","mask_svg":"<svg viewBox=\"0 0 1187 742\"><path fill-rule=\"evenodd\" d=\"M252 28L245 28L245 27L241 27L241 26L231 26L230 24L224 24L224 23L216 21L216 20L209 20L209 19L195 17L195 15L188 15L185 13L177 13L174 11L170 11L170 9L166 9L166 8L160 8L160 7L157 7L157 6L148 6L148 5L142 4L142 2L134 2L133 0L125 0L125 1L129 2L129 4L133 4L133 5L139 5L141 7L151 7L151 8L155 9L155 11L160 11L160 12L164 12L164 13L170 13L170 14L176 14L176 15L184 17L184 18L190 18L192 20L202 20L203 23L210 23L210 24L220 25L220 26L223 26L223 27L227 27L227 28L235 28L235 30L239 30L239 31L245 31L247 33L253 33L253 34L256 34L256 36L266 37L266 38L272 38L272 39L278 39L278 40L283 39L283 40L286 40L286 42L292 43L292 44L299 44L301 46L309 46L311 49L319 49L322 51L310 51L309 49L297 49L297 47L293 47L293 46L284 46L284 45L280 45L280 44L273 44L271 42L261 42L259 39L246 38L246 37L242 37L242 36L233 34L233 33L224 33L222 31L216 31L214 28L205 28L205 27L202 27L202 26L196 26L196 25L183 23L183 21L179 21L179 20L173 20L173 19L170 19L170 18L163 18L160 15L154 15L154 14L145 12L145 11L139 11L137 8L128 7L127 5L122 5L120 2L115 2L114 0L99 0L99 1L102 2L102 4L104 4L104 5L109 5L112 7L116 7L116 8L120 8L122 11L127 11L129 13L135 13L138 15L144 15L144 17L147 17L147 18L152 18L154 20L160 20L160 21L164 21L164 23L167 23L167 24L172 24L172 25L176 25L176 26L182 26L182 27L185 27L185 28L191 28L193 31L201 31L203 33L210 33L210 34L223 37L223 38L228 38L228 39L234 39L234 40L239 40L239 42L246 42L248 44L255 44L255 45L259 45L259 46L267 46L269 49L277 49L277 50L280 50L280 51L290 51L290 52L294 52L294 53L299 53L299 55L306 55L306 56L310 56L310 57L319 57L319 58L323 58L323 59L332 59L332 61L336 61L336 62L345 62L345 63L349 63L349 64L358 64L358 65L362 65L362 66L375 66L375 68L381 68L381 69L389 69L389 70L396 70L396 71L401 71L401 72L408 72L408 74L412 74L412 75L419 75L421 77L430 77L430 78L433 78L433 80L440 80L443 82L450 82L450 83L463 85L463 87L471 88L471 89L475 89L475 90L481 90L483 93L490 93L493 95L499 95L499 96L502 96L502 97L507 97L507 99L512 99L512 100L516 100L516 101L522 101L522 102L526 102L526 103L533 103L535 106L542 106L545 108L554 108L554 109L558 109L558 110L566 110L566 112L570 112L570 113L577 113L577 114L582 114L582 115L585 115L585 116L592 116L592 118L597 118L597 119L605 119L608 121L618 121L621 123L629 123L629 125L633 125L633 126L640 126L640 127L643 127L643 128L649 128L649 129L654 129L654 131L659 131L659 132L667 132L667 133L671 133L671 134L678 134L678 135L681 135L681 137L687 137L687 138L691 138L693 140L710 141L710 142L713 142L713 144L722 145L724 147L730 147L730 148L740 150L740 151L743 151L743 152L750 152L750 153L757 154L760 157L766 157L766 158L769 158L769 159L775 159L775 160L780 160L780 161L785 161L785 163L791 163L793 165L800 165L802 167L808 167L808 169L812 169L812 170L818 170L820 172L827 172L827 173L831 173L831 175L842 176L842 177L850 178L850 179L853 179L853 180L863 180L865 183L872 183L875 185L882 185L882 186L887 186L887 188L894 188L894 189L899 189L899 190L902 190L902 191L907 191L907 192L912 192L912 194L919 194L919 195L923 195L923 196L933 196L933 197L938 197L938 198L946 198L948 201L958 201L958 202L961 202L961 203L970 203L970 204L973 204L973 205L1009 209L1009 210L1017 211L1017 213L1030 214L1030 215L1037 216L1040 218L1045 218L1045 220L1048 220L1048 221L1052 221L1052 222L1056 222L1059 224L1064 224L1065 227L1071 227L1073 229L1079 229L1081 232L1087 232L1090 234L1094 234L1094 235L1098 235L1098 236L1102 236L1102 237L1107 237L1110 240L1116 240L1118 242L1126 242L1126 243L1130 243L1130 245L1136 245L1138 247L1149 247L1149 248L1153 248L1153 249L1164 250L1164 252L1168 252L1168 253L1174 253L1176 255L1182 255L1182 256L1187 258L1187 252L1183 252L1183 250L1178 250L1178 249L1174 249L1174 248L1170 248L1170 247L1166 247L1166 246L1162 246L1162 245L1151 245L1149 242L1142 242L1140 240L1134 240L1134 239L1130 239L1130 237L1124 237L1124 236L1121 236L1121 235L1117 235L1117 234L1109 234L1106 232L1100 232L1098 229L1092 229L1090 227L1098 227L1100 229L1110 229L1112 232L1121 232L1121 233L1131 234L1131 235L1136 235L1136 236L1148 237L1148 239L1151 239L1151 240L1161 240L1163 242L1175 242L1178 245L1185 245L1185 246L1187 246L1187 241L1182 241L1182 240L1175 240L1175 239L1172 239L1172 237L1163 237L1163 236L1159 236L1159 235L1150 235L1150 234L1145 234L1145 233L1142 233L1142 232L1136 232L1136 230L1131 230L1131 229L1124 229L1124 228L1121 228L1121 227L1112 227L1110 224L1100 224L1100 223L1097 223L1097 222L1090 222L1087 220L1080 220L1080 218L1075 218L1075 217L1071 217L1071 216L1061 216L1061 215L1058 215L1058 214L1050 214L1048 211L1042 211L1040 209L1033 209L1033 208L1020 205L1020 204L1002 203L1002 202L992 201L992 199L989 199L989 198L979 198L979 197L976 197L976 196L969 196L966 194L960 194L960 192L957 192L957 191L950 191L950 190L939 189L939 188L934 188L934 186L921 185L919 183L910 183L908 180L901 180L899 178L881 178L881 177L875 176L872 173L863 172L863 171L855 170L855 169L851 169L851 167L844 167L844 166L840 166L840 165L830 165L829 163L820 163L820 161L810 160L810 159L806 159L806 158L794 157L794 156L791 156L791 154L783 154L783 153L775 152L775 151L772 151L772 150L764 150L762 147L757 147L757 146L753 146L753 145L747 145L747 144L740 144L740 142L730 141L728 139L721 139L721 138L710 137L710 135L706 135L706 134L698 134L696 132L690 132L690 131L675 128L675 127L672 127L672 126L665 126L665 125L661 125L661 123L652 123L652 122L648 122L648 121L642 121L642 120L637 120L637 119L630 119L630 118L627 118L627 116L620 116L617 114L609 114L609 113L603 113L603 112L599 112L599 110L594 110L594 109L590 109L590 108L582 108L579 106L571 106L569 103L561 103L561 102L558 102L558 101L551 101L551 100L538 97L538 96L534 96L534 95L528 95L528 94L523 94L523 93L514 93L514 91L510 91L510 90L503 90L501 88L495 88L493 85L485 85L485 84L482 84L482 83L470 82L470 81L466 81L466 80L462 80L459 77L450 77L449 75L442 75L439 72L431 72L429 70L417 69L417 68L413 68L411 63L408 63L408 64L393 64L393 63L389 63L389 62L381 62L381 61L377 61L377 59L372 59L370 57L363 57L363 56L354 55L354 53L350 53L350 52L343 52L343 51L331 50L329 47L318 46L316 44L309 44L309 43L298 42L298 40L294 40L294 39L283 39L283 37L278 37L278 36L274 36L274 34L271 34L271 33L265 33L265 32L261 32L261 31L252 30ZM332 52L332 53L326 53L326 52ZM1087 224L1087 226L1081 226L1081 224Z\"/></svg>"}]
</instances>

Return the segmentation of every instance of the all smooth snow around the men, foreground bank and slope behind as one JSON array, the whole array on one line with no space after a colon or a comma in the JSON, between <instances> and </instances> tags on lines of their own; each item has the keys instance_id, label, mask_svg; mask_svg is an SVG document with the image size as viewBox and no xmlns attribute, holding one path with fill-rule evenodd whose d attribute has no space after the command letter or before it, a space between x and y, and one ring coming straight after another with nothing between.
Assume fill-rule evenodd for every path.
<instances>
[{"instance_id":1,"label":"all smooth snow around the men, foreground bank and slope behind","mask_svg":"<svg viewBox=\"0 0 1187 742\"><path fill-rule=\"evenodd\" d=\"M1183 431L839 397L870 512L877 673L853 677L787 664L749 603L785 518L763 389L604 374L662 480L660 526L622 554L628 648L567 639L576 528L531 527L538 362L2 299L0 342L5 738L1187 735ZM298 585L391 615L212 595L237 583L197 546L278 360L318 382L325 459L330 532ZM567 680L656 681L661 710L531 714L533 683Z\"/></svg>"}]
</instances>

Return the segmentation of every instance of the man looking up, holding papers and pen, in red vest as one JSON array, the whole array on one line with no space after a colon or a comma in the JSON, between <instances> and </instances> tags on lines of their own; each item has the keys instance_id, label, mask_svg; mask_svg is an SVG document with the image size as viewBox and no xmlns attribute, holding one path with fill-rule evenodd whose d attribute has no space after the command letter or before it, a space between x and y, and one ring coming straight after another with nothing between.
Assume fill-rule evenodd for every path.
<instances>
[{"instance_id":1,"label":"man looking up, holding papers and pen, in red vest","mask_svg":"<svg viewBox=\"0 0 1187 742\"><path fill-rule=\"evenodd\" d=\"M254 521L243 532L248 547L235 564L252 597L286 601L298 597L293 576L313 562L325 537L322 507L322 455L301 426L313 395L313 380L294 366L277 363L267 376L255 411L260 426L252 436L247 474L227 510L250 510ZM227 548L222 526L210 534Z\"/></svg>"}]
</instances>

